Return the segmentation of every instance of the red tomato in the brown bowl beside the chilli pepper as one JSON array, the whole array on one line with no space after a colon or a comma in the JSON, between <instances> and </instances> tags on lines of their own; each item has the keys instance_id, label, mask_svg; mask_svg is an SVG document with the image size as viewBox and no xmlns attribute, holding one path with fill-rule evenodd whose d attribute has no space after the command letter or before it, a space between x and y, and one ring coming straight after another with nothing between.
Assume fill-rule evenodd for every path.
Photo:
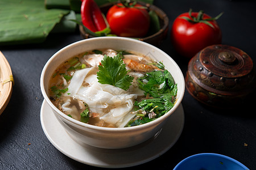
<instances>
[{"instance_id":1,"label":"red tomato in the brown bowl beside the chilli pepper","mask_svg":"<svg viewBox=\"0 0 256 170\"><path fill-rule=\"evenodd\" d=\"M118 6L123 6L118 3ZM143 37L146 36L149 25L150 16L147 10L136 4L134 7L118 7L112 6L107 15L109 27L113 34L122 37Z\"/></svg>"}]
</instances>

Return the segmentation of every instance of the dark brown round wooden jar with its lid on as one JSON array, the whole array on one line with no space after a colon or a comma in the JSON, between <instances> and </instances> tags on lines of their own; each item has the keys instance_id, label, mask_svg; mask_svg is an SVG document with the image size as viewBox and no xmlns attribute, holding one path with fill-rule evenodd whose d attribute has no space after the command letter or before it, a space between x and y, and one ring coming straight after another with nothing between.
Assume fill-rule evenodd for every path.
<instances>
[{"instance_id":1,"label":"dark brown round wooden jar with its lid on","mask_svg":"<svg viewBox=\"0 0 256 170\"><path fill-rule=\"evenodd\" d=\"M233 46L211 45L189 61L185 83L189 94L201 103L235 107L255 90L253 61Z\"/></svg>"}]
</instances>

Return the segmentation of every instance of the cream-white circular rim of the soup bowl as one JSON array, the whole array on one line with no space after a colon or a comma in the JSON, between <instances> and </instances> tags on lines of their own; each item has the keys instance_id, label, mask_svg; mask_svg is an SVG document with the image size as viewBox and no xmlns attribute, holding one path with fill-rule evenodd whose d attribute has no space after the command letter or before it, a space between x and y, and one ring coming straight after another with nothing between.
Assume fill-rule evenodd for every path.
<instances>
[{"instance_id":1,"label":"cream-white circular rim of the soup bowl","mask_svg":"<svg viewBox=\"0 0 256 170\"><path fill-rule=\"evenodd\" d=\"M138 125L138 126L131 126L131 127L123 127L123 128L108 128L108 127L101 127L101 126L95 126L95 125L90 125L90 124L85 124L81 121L75 120L74 118L71 118L69 116L67 116L67 114L61 112L59 109L57 109L55 107L55 105L53 105L53 103L49 100L49 97L47 96L46 90L44 88L44 75L46 74L46 70L48 68L49 65L51 65L51 62L53 61L53 59L57 56L59 56L60 53L65 52L65 50L68 50L69 48L72 48L73 46L79 46L81 44L84 43L89 43L90 41L97 41L97 40L101 40L101 39L111 39L111 40L123 40L123 41L132 41L135 43L139 43L142 45L146 45L149 46L151 49L153 50L157 50L161 53L164 54L164 56L168 56L168 54L166 54L165 52L163 52L163 50L156 48L155 46L148 44L147 42L144 41L139 41L139 40L135 40L135 39L131 39L131 38L127 38L127 37L93 37L90 39L84 39L84 40L80 40L80 41L76 41L73 42L72 44L69 44L67 46L64 46L64 48L61 48L60 50L58 50L55 54L53 54L51 56L51 58L48 59L47 63L44 65L41 76L40 76L40 88L41 88L41 92L42 95L44 97L44 100L46 100L47 104L49 105L49 107L51 107L59 116L61 116L62 118L64 118L67 121L72 122L72 124L76 124L78 126L81 126L82 128L88 128L88 129L94 129L94 130L104 130L104 131L112 131L112 132L119 132L119 131L132 131L132 130L138 130L138 129L145 129L148 126L153 126L155 124L160 124L162 121L166 120L166 118L168 116L171 116L171 114L177 109L177 107L179 107L179 105L181 104L181 101L183 100L184 97L184 93L185 93L185 80L184 80L184 76L182 71L180 70L180 67L177 65L177 63L174 61L174 59L172 59L170 56L168 56L172 63L175 65L175 69L177 69L176 71L179 72L179 75L181 76L181 83L180 85L180 97L179 99L176 100L176 103L174 105L174 107L168 111L166 114L164 114L163 116L157 118L154 121L148 122L146 124L143 125Z\"/></svg>"}]
</instances>

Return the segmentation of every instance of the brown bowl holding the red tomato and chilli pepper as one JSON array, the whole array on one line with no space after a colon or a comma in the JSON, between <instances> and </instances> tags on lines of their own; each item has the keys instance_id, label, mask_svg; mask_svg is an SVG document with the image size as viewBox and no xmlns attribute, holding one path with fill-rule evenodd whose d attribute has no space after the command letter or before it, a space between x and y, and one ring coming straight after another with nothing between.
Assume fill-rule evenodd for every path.
<instances>
[{"instance_id":1,"label":"brown bowl holding the red tomato and chilli pepper","mask_svg":"<svg viewBox=\"0 0 256 170\"><path fill-rule=\"evenodd\" d=\"M117 3L117 2L115 2L115 3ZM115 3L106 3L105 5L100 6L101 11L103 13L106 13L108 11L108 9L110 7L112 7ZM160 20L160 30L158 32L154 33L153 35L148 35L147 37L138 38L138 40L148 42L152 45L160 45L161 42L163 41L163 39L166 38L167 33L168 33L169 19L168 19L167 14L162 9L160 9L159 7L157 7L155 5L151 5L149 3L140 2L140 1L138 1L138 3L142 6L148 7L148 11L151 11L151 10L154 11L156 13L156 15L158 15L159 20ZM82 27L82 25L79 25L79 31L81 33L81 36L84 39L94 37L94 36L86 33L84 31L84 28Z\"/></svg>"}]
</instances>

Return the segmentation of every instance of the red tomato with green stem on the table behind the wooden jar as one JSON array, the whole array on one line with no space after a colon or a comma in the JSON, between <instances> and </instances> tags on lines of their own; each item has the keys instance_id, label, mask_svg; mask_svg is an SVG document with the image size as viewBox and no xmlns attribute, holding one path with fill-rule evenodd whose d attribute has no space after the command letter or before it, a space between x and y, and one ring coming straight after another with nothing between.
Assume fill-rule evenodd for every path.
<instances>
[{"instance_id":1,"label":"red tomato with green stem on the table behind the wooden jar","mask_svg":"<svg viewBox=\"0 0 256 170\"><path fill-rule=\"evenodd\" d=\"M216 19L222 14L216 16L213 20L207 21L212 27L205 23L205 19L211 17L203 12L200 14L198 22L192 22L191 20L196 20L198 15L199 12L191 12L191 15L186 12L179 15L172 24L172 45L181 56L192 58L197 52L209 45L221 44L222 34Z\"/></svg>"}]
</instances>

